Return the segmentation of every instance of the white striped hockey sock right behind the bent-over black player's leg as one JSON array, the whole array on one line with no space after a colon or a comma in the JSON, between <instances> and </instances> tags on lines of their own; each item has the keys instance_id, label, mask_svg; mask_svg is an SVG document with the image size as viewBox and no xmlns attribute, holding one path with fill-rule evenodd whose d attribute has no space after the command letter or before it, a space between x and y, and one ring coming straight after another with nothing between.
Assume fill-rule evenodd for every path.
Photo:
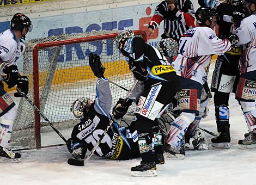
<instances>
[{"instance_id":1,"label":"white striped hockey sock right behind the bent-over black player's leg","mask_svg":"<svg viewBox=\"0 0 256 185\"><path fill-rule=\"evenodd\" d=\"M178 118L176 118L166 139L166 143L180 150L182 145L182 138L187 130L188 125L194 120L195 115L192 113L181 113Z\"/></svg>"}]
</instances>

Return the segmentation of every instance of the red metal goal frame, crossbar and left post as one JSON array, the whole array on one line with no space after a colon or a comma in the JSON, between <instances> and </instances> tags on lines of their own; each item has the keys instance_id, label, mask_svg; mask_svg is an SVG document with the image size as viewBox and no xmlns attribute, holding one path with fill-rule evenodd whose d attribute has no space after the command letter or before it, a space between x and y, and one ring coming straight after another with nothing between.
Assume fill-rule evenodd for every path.
<instances>
[{"instance_id":1,"label":"red metal goal frame, crossbar and left post","mask_svg":"<svg viewBox=\"0 0 256 185\"><path fill-rule=\"evenodd\" d=\"M144 41L148 41L147 34L143 30L134 30L135 35L141 35ZM39 96L39 57L38 52L42 48L62 46L68 44L78 44L81 42L89 42L104 39L113 39L118 35L118 33L85 36L82 38L69 39L63 41L53 41L39 43L33 48L33 84L34 84L34 104L38 109L40 109L40 96ZM40 128L40 114L34 111L35 114L35 146L36 148L41 147L41 128ZM51 121L51 120L50 120Z\"/></svg>"}]
</instances>

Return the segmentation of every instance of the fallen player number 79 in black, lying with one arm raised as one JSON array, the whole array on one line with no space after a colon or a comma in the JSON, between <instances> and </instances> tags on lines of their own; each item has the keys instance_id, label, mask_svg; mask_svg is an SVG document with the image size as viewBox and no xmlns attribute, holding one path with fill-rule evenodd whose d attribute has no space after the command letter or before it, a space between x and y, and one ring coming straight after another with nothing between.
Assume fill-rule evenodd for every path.
<instances>
[{"instance_id":1,"label":"fallen player number 79 in black, lying with one arm raised","mask_svg":"<svg viewBox=\"0 0 256 185\"><path fill-rule=\"evenodd\" d=\"M92 151L111 119L109 110L112 96L108 79L103 76L105 67L101 64L99 55L93 53L90 53L89 64L94 75L98 77L95 101L84 97L78 98L72 103L70 109L76 118L81 119L80 123L74 127L67 144L68 150L76 159L83 159L87 150ZM136 92L130 95L131 98L136 96ZM155 146L162 143L161 133L159 133L155 139ZM120 127L114 122L94 154L118 160L139 157L138 133L134 124L129 127ZM156 155L154 161L156 164L164 163L163 155Z\"/></svg>"}]
</instances>

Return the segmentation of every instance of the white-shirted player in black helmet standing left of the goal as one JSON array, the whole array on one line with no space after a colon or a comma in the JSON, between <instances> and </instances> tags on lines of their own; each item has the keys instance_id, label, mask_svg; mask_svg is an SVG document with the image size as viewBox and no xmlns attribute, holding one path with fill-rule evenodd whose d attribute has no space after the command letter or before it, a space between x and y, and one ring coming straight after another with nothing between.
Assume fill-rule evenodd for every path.
<instances>
[{"instance_id":1,"label":"white-shirted player in black helmet standing left of the goal","mask_svg":"<svg viewBox=\"0 0 256 185\"><path fill-rule=\"evenodd\" d=\"M3 81L12 88L15 85L25 94L28 93L28 78L20 76L17 68L17 59L25 51L25 44L21 39L25 39L28 32L32 30L32 23L29 18L21 13L17 13L11 19L11 27L0 34L0 157L19 161L20 153L12 151L10 146L11 132L13 131L14 118L17 108L10 95L4 90ZM22 97L19 92L15 92L15 97Z\"/></svg>"}]
</instances>

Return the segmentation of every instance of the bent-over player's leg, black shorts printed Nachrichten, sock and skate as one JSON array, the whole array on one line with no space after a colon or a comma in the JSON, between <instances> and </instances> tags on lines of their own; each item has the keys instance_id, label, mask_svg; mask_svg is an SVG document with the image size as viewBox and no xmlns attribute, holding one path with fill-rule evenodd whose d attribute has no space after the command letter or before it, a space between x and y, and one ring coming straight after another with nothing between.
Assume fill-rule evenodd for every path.
<instances>
[{"instance_id":1,"label":"bent-over player's leg, black shorts printed Nachrichten, sock and skate","mask_svg":"<svg viewBox=\"0 0 256 185\"><path fill-rule=\"evenodd\" d=\"M155 80L147 81L145 91L140 97L136 108L135 128L138 132L141 165L131 168L133 176L155 176L155 151L161 153L161 132L156 126L156 119L164 112L175 94L175 83L158 84ZM154 123L155 122L155 123ZM154 132L155 131L155 132Z\"/></svg>"}]
</instances>

